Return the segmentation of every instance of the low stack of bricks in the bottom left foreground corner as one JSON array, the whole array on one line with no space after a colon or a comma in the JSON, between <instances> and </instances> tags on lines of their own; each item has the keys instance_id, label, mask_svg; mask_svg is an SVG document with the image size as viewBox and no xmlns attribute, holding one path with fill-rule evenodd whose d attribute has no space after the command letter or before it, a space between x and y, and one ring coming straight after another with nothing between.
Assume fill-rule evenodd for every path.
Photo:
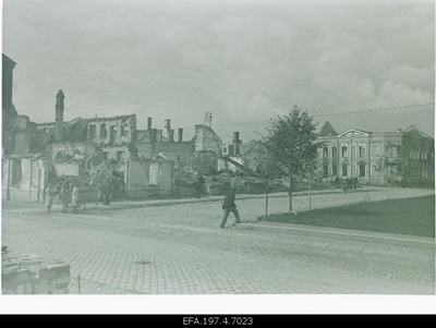
<instances>
[{"instance_id":1,"label":"low stack of bricks in the bottom left foreground corner","mask_svg":"<svg viewBox=\"0 0 436 328\"><path fill-rule=\"evenodd\" d=\"M2 294L68 294L70 265L36 255L1 254Z\"/></svg>"}]
</instances>

